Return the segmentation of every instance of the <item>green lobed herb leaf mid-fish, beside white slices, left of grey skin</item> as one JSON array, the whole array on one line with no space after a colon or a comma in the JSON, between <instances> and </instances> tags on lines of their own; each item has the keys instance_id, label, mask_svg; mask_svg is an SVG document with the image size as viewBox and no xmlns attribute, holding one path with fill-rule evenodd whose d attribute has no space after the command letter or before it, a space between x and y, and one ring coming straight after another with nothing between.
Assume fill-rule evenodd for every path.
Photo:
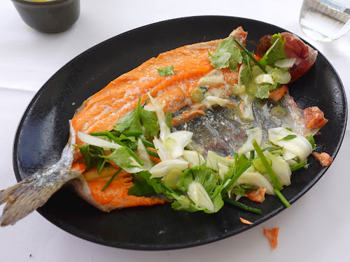
<instances>
[{"instance_id":1,"label":"green lobed herb leaf mid-fish, beside white slices, left of grey skin","mask_svg":"<svg viewBox=\"0 0 350 262\"><path fill-rule=\"evenodd\" d=\"M158 117L155 112L145 110L141 107L141 99L137 107L125 117L119 119L114 125L116 131L139 131L142 132L142 125L145 131L150 136L157 136L160 126L158 124Z\"/></svg>"}]
</instances>

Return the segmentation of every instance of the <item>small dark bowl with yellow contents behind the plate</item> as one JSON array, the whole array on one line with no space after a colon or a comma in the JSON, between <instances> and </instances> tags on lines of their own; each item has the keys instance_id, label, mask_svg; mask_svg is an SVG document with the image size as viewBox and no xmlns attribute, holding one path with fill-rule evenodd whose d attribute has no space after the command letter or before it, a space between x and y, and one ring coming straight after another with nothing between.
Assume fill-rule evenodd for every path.
<instances>
[{"instance_id":1,"label":"small dark bowl with yellow contents behind the plate","mask_svg":"<svg viewBox=\"0 0 350 262\"><path fill-rule=\"evenodd\" d=\"M80 14L80 0L11 0L22 20L43 33L71 28Z\"/></svg>"}]
</instances>

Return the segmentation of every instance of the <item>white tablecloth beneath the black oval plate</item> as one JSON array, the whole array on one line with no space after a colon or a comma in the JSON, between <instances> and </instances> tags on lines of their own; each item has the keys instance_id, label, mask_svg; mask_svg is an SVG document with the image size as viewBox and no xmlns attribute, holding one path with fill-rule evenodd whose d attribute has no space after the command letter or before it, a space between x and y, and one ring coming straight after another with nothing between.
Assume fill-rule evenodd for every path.
<instances>
[{"instance_id":1,"label":"white tablecloth beneath the black oval plate","mask_svg":"<svg viewBox=\"0 0 350 262\"><path fill-rule=\"evenodd\" d=\"M316 46L350 97L350 34L318 43L302 34L298 1L81 1L78 22L60 34L41 34L22 22L10 1L0 7L0 189L14 184L13 138L34 94L67 61L112 36L162 20L230 15L276 24ZM33 212L0 228L0 261L350 261L350 127L329 170L290 208L231 238L189 249L137 252L76 238ZM0 210L2 210L1 207ZM262 227L279 226L272 250Z\"/></svg>"}]
</instances>

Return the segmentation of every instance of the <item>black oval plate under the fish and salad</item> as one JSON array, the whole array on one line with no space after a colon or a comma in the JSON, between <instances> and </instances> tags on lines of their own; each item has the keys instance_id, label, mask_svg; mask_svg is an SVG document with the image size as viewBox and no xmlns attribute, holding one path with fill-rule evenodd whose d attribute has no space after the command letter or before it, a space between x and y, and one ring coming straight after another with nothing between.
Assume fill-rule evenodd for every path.
<instances>
[{"instance_id":1,"label":"black oval plate under the fish and salad","mask_svg":"<svg viewBox=\"0 0 350 262\"><path fill-rule=\"evenodd\" d=\"M69 136L68 120L89 96L119 75L136 68L160 52L183 45L225 38L232 29L248 31L247 48L254 50L261 36L286 31L272 24L237 17L199 16L168 20L128 31L90 48L70 61L43 85L29 104L15 137L13 163L17 180L59 159ZM333 158L342 143L346 126L346 97L342 82L322 54L311 70L289 85L300 108L316 105L330 119L316 137L318 150ZM328 168L313 157L310 166L292 176L283 195L294 203ZM230 205L216 214L176 212L170 205L126 208L110 213L85 203L70 189L61 189L42 208L43 217L73 235L111 247L126 249L178 249L228 238L284 209L279 198L267 196L251 214Z\"/></svg>"}]
</instances>

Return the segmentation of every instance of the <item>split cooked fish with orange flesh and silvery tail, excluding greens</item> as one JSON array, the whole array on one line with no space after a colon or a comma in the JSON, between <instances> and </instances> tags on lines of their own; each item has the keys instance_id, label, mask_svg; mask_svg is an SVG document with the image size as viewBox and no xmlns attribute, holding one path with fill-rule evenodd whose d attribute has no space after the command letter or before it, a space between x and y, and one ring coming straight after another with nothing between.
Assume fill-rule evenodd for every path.
<instances>
[{"instance_id":1,"label":"split cooked fish with orange flesh and silvery tail, excluding greens","mask_svg":"<svg viewBox=\"0 0 350 262\"><path fill-rule=\"evenodd\" d=\"M230 36L233 36L241 45L245 45L247 33L241 27L232 31ZM105 191L102 191L106 181L116 171L113 166L97 175L94 169L83 173L83 169L78 164L74 164L80 159L81 154L72 145L83 145L76 136L77 131L90 133L113 129L113 124L136 107L139 98L141 103L146 101L148 92L165 105L165 112L171 111L175 114L172 121L174 129L190 129L195 133L193 140L206 150L214 150L225 155L235 152L243 143L244 129L248 124L235 116L232 111L234 107L231 105L239 101L230 98L230 89L226 88L237 84L239 71L232 72L224 68L220 70L220 78L218 78L216 75L218 71L211 66L208 59L208 52L214 52L221 41L222 39L186 45L159 54L157 58L153 57L134 70L120 75L100 92L87 99L69 121L70 138L59 161L38 170L13 187L0 191L0 204L7 203L0 217L1 226L15 224L22 217L44 205L48 198L67 182L73 184L77 194L85 201L107 212L116 208L165 203L165 200L160 198L130 196L128 191L134 184L133 175L124 170ZM297 43L298 46L307 46L300 43L300 39ZM260 43L257 49L262 50L262 48ZM287 49L293 50L293 45L288 45ZM306 59L307 61L299 59L297 62L301 66L306 64L309 68L314 64L316 51L308 46L307 50L314 58ZM288 54L293 56L293 52ZM175 74L160 78L155 69L169 65L174 66ZM304 69L305 66L302 66L296 71L302 70L302 73L305 73ZM226 103L228 106L225 108L211 108L211 105L193 103L190 99L193 89L199 87L200 81L208 75L218 79L213 89L221 90L221 99L232 100L232 103ZM288 117L283 120L278 117L273 118L265 112L277 103L270 101L266 104L267 108L263 108L264 105L260 106L259 103L259 101L253 102L256 119L249 123L251 126L260 126L266 130L272 126L285 124L293 127L298 133L312 134L321 128L315 128L314 125L307 126L310 121L304 122L306 119L304 111L297 108L288 93L284 94L283 99L278 102L288 108ZM314 119L314 115L311 114L311 119ZM190 119L194 120L189 122ZM205 136L202 133L203 130Z\"/></svg>"}]
</instances>

